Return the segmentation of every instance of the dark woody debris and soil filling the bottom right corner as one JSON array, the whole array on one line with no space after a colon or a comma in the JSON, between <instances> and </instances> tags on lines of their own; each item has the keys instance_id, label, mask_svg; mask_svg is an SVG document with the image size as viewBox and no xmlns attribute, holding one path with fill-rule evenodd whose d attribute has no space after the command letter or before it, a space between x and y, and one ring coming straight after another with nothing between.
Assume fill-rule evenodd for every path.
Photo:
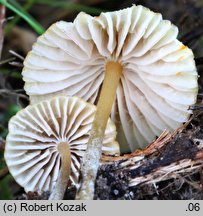
<instances>
[{"instance_id":1,"label":"dark woody debris and soil filling the bottom right corner","mask_svg":"<svg viewBox=\"0 0 203 216\"><path fill-rule=\"evenodd\" d=\"M102 165L95 199L202 198L203 111L155 152L142 156Z\"/></svg>"}]
</instances>

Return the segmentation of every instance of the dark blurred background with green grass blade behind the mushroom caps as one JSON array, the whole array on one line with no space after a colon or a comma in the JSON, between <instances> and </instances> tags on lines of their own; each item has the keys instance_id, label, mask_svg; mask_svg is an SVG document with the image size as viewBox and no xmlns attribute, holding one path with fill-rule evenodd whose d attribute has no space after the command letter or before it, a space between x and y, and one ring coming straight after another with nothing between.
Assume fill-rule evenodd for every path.
<instances>
[{"instance_id":1,"label":"dark blurred background with green grass blade behind the mushroom caps","mask_svg":"<svg viewBox=\"0 0 203 216\"><path fill-rule=\"evenodd\" d=\"M3 149L9 119L29 103L21 71L32 44L52 23L73 21L80 11L99 15L132 4L159 12L179 27L179 39L193 49L203 77L203 0L0 0L0 199L16 199L23 193L8 174ZM202 84L200 78L199 97Z\"/></svg>"}]
</instances>

